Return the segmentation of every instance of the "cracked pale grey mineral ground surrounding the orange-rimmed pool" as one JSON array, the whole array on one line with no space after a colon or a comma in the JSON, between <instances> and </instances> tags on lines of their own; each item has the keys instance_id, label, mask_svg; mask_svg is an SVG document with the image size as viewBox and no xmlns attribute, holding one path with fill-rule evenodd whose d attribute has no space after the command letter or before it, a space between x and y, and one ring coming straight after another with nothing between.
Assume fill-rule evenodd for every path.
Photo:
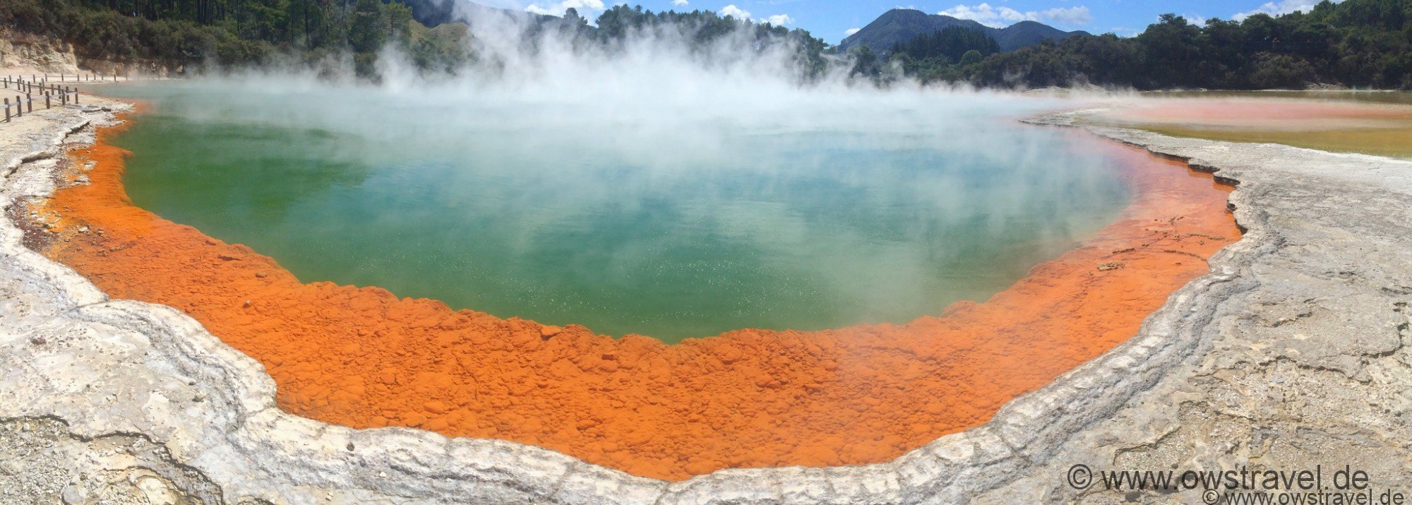
<instances>
[{"instance_id":1,"label":"cracked pale grey mineral ground surrounding the orange-rimmed pool","mask_svg":"<svg viewBox=\"0 0 1412 505\"><path fill-rule=\"evenodd\" d=\"M1039 120L1070 124L1083 113ZM107 114L0 130L6 206L54 190L65 138ZM130 492L191 502L953 504L1197 502L1075 489L1073 464L1357 466L1406 485L1412 164L1090 128L1240 182L1238 243L1137 337L1007 403L984 426L880 464L633 477L531 446L287 415L251 358L181 312L110 300L0 221L3 502ZM71 131L76 131L69 135ZM155 498L154 498L155 499Z\"/></svg>"}]
</instances>

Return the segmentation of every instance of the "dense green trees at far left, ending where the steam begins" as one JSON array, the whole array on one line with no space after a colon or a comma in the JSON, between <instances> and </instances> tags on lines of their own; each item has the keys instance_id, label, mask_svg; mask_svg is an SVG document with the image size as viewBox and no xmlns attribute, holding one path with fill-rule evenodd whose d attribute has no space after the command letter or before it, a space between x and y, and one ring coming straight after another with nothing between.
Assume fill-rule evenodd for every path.
<instances>
[{"instance_id":1,"label":"dense green trees at far left, ending where the steam begins","mask_svg":"<svg viewBox=\"0 0 1412 505\"><path fill-rule=\"evenodd\" d=\"M4 0L0 24L73 44L80 61L148 71L263 63L294 49L311 61L350 52L367 71L388 41L428 45L405 4L381 0Z\"/></svg>"}]
</instances>

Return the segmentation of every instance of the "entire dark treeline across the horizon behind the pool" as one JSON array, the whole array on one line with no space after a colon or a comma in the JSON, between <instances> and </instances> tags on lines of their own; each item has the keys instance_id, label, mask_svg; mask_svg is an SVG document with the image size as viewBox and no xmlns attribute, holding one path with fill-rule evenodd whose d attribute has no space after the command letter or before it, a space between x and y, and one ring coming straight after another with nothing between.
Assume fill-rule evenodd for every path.
<instances>
[{"instance_id":1,"label":"entire dark treeline across the horizon behind the pool","mask_svg":"<svg viewBox=\"0 0 1412 505\"><path fill-rule=\"evenodd\" d=\"M474 62L466 44L474 34L466 25L428 28L414 18L408 3L425 1L436 0L4 0L0 25L72 42L83 59L165 68L352 56L359 73L373 75L378 51L393 42L426 71L457 72ZM562 20L517 14L531 34L558 30L576 44L610 49L635 32L675 31L705 54L719 51L719 42L738 44L738 51L788 48L805 75L822 75L840 61L808 31L712 11L652 13L620 4L599 16L596 27L573 10ZM986 87L1412 89L1409 18L1409 0L1326 0L1309 13L1204 25L1165 14L1131 38L1077 35L1011 52L1001 52L983 31L956 27L881 55L864 47L850 58L854 76L887 80L897 68L922 82Z\"/></svg>"}]
</instances>

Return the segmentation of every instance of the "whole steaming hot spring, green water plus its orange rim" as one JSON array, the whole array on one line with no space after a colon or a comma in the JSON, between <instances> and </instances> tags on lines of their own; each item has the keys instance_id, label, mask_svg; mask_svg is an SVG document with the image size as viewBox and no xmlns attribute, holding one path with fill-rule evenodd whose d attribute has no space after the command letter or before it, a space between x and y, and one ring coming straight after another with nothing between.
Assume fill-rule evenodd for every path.
<instances>
[{"instance_id":1,"label":"whole steaming hot spring, green water plus its orange rim","mask_svg":"<svg viewBox=\"0 0 1412 505\"><path fill-rule=\"evenodd\" d=\"M791 89L114 89L147 111L71 152L35 247L288 412L683 480L981 425L1240 236L1210 175L1015 121L1073 104Z\"/></svg>"}]
</instances>

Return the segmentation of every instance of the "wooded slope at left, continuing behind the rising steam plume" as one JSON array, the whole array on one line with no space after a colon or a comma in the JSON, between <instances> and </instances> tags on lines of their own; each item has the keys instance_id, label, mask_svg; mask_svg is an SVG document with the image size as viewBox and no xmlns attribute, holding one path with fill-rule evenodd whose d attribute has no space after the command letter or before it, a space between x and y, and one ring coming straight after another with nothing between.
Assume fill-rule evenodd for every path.
<instances>
[{"instance_id":1,"label":"wooded slope at left, continuing behind the rising steam plume","mask_svg":"<svg viewBox=\"0 0 1412 505\"><path fill-rule=\"evenodd\" d=\"M476 34L457 21L490 14L518 21L531 35L554 30L576 44L610 45L633 30L664 27L709 44L744 30L740 51L788 44L809 73L822 71L827 47L803 30L712 11L652 13L627 6L609 8L594 27L572 8L561 18L465 0L0 0L0 27L71 42L80 62L189 71L289 58L319 65L352 54L363 76L376 75L378 52L388 44L405 49L424 71L460 71L477 55L466 44Z\"/></svg>"}]
</instances>

